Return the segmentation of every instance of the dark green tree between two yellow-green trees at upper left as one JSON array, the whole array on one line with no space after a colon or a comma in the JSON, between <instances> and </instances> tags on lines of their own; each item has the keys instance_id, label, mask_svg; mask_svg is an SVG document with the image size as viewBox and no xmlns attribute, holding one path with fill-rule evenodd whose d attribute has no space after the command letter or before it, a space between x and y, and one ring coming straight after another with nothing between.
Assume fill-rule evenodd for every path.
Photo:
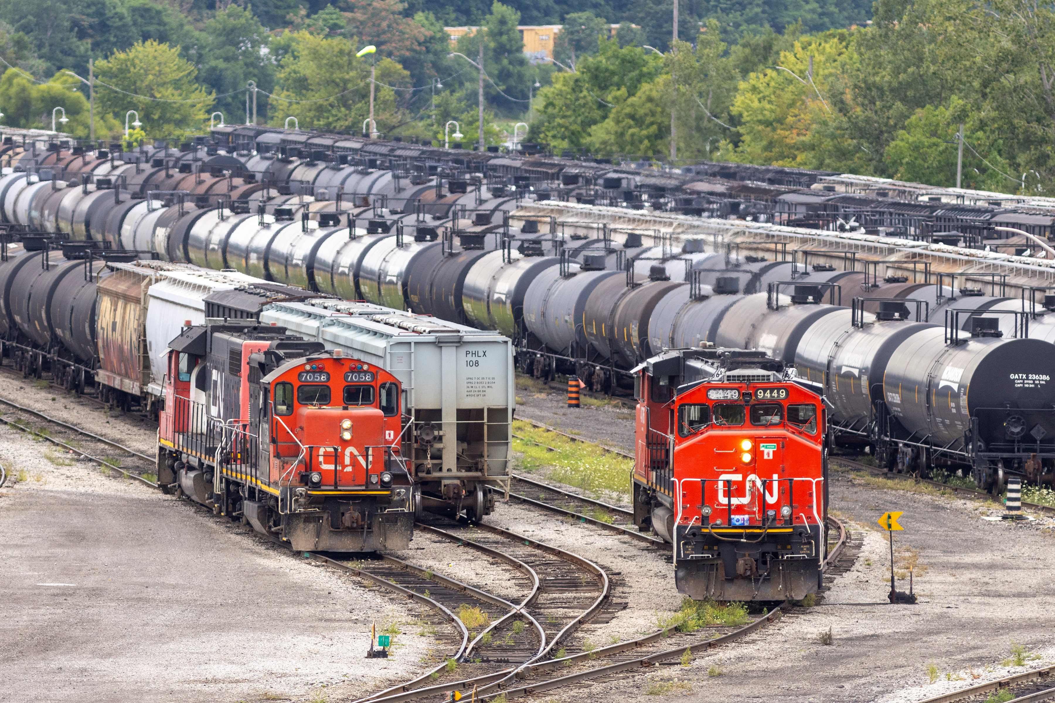
<instances>
[{"instance_id":1,"label":"dark green tree between two yellow-green trees at upper left","mask_svg":"<svg viewBox=\"0 0 1055 703\"><path fill-rule=\"evenodd\" d=\"M213 109L228 122L241 122L248 81L256 81L267 93L274 91L275 65L268 52L271 37L248 9L233 4L206 22L200 37L198 80L216 94ZM267 110L267 95L257 93L256 115L265 123Z\"/></svg>"}]
</instances>

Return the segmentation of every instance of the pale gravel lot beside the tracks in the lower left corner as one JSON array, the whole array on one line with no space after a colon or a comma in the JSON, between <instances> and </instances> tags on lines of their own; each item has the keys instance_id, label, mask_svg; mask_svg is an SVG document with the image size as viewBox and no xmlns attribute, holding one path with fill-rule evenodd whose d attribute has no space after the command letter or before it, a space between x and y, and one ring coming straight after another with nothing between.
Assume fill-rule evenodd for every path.
<instances>
[{"instance_id":1,"label":"pale gravel lot beside the tracks in the lower left corner","mask_svg":"<svg viewBox=\"0 0 1055 703\"><path fill-rule=\"evenodd\" d=\"M0 428L0 701L353 698L424 670L404 599L46 451ZM391 659L364 657L375 622L404 632Z\"/></svg>"}]
</instances>

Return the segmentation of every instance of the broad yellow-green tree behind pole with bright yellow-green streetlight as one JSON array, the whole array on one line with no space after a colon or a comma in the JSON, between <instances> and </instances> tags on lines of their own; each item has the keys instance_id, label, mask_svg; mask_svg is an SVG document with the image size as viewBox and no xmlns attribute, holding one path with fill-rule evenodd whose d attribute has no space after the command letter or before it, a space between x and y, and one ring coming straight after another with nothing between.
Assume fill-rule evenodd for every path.
<instances>
[{"instance_id":1,"label":"broad yellow-green tree behind pole with bright yellow-green streetlight","mask_svg":"<svg viewBox=\"0 0 1055 703\"><path fill-rule=\"evenodd\" d=\"M269 123L282 125L291 115L301 129L360 132L370 112L369 56L357 58L358 45L335 37L298 32L290 33L290 41L291 50L279 66ZM373 118L379 132L388 133L404 122L395 91L387 85L403 85L408 78L392 59L378 61Z\"/></svg>"}]
</instances>

